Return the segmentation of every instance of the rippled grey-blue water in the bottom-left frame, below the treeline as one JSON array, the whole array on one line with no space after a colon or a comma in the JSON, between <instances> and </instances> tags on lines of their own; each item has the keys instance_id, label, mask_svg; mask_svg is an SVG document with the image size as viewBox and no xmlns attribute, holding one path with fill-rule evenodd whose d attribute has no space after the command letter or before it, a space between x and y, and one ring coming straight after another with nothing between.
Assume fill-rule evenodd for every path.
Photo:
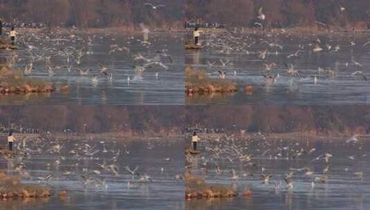
<instances>
[{"instance_id":1,"label":"rippled grey-blue water in the bottom-left frame, below the treeline","mask_svg":"<svg viewBox=\"0 0 370 210\"><path fill-rule=\"evenodd\" d=\"M61 146L60 151L55 149L57 145ZM25 171L30 173L30 178L22 178L23 182L37 183L38 177L51 174L53 178L41 184L52 187L57 194L66 190L68 195L65 199L55 195L47 200L1 202L0 209L184 209L184 185L175 179L176 174L183 174L182 140L29 141L26 148L33 153L30 158L1 160L1 168L23 162ZM117 165L118 175L97 165L104 162ZM131 175L125 166L130 169L138 166L136 172L150 175L153 182L140 182L138 175ZM101 174L93 170L100 170ZM66 171L72 172L71 175L63 175ZM9 172L17 175L12 170ZM95 184L84 187L80 175L105 179L106 187Z\"/></svg>"}]
</instances>

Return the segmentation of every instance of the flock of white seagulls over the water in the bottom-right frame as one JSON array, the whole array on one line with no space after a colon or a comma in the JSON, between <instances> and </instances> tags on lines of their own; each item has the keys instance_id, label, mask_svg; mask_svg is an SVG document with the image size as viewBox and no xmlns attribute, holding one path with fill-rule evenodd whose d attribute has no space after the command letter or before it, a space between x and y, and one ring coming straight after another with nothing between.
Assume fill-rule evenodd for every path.
<instances>
[{"instance_id":1,"label":"flock of white seagulls over the water in the bottom-right frame","mask_svg":"<svg viewBox=\"0 0 370 210\"><path fill-rule=\"evenodd\" d=\"M337 173L344 173L344 176L352 180L364 181L365 174L362 170L356 171L358 167L354 161L364 161L370 153L363 150L358 135L353 134L344 142L310 142L268 140L263 133L248 136L244 133L202 138L202 153L186 156L187 171L203 175L206 180L240 180L255 183L254 187L261 184L261 187L275 192L283 189L301 191L304 186L313 189L317 184L335 182L338 179ZM331 145L326 146L330 151L325 151L325 146L320 146L322 149L313 146L318 144ZM347 151L351 151L351 155L343 156L341 151L335 152L335 147L338 146L344 146ZM334 163L335 158L337 160ZM279 166L275 166L275 161L280 161ZM344 164L344 168L342 165L335 165L345 161L350 164ZM352 167L349 166L351 164ZM279 167L281 169L277 169ZM299 185L296 186L295 183Z\"/></svg>"}]
</instances>

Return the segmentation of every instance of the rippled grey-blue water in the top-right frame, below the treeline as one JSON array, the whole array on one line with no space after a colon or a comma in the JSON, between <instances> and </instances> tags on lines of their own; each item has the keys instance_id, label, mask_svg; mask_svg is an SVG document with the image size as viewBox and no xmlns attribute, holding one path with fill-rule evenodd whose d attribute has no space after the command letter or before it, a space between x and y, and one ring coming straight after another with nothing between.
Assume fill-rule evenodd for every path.
<instances>
[{"instance_id":1,"label":"rippled grey-blue water in the top-right frame, below the treeline","mask_svg":"<svg viewBox=\"0 0 370 210\"><path fill-rule=\"evenodd\" d=\"M368 104L370 101L369 81L360 76L351 75L362 71L369 75L370 45L368 35L329 34L264 34L264 35L205 35L203 44L222 44L231 46L230 52L222 51L220 46L206 47L200 51L187 50L185 64L205 70L210 77L219 77L217 70L225 70L226 77L238 84L239 93L234 95L195 95L187 97L187 104ZM313 41L320 39L323 50L313 53ZM267 41L267 42L266 42ZM243 46L246 44L246 46ZM269 46L277 44L279 46ZM340 49L335 51L339 46ZM329 50L330 48L330 50ZM259 53L268 50L266 59L259 59ZM297 57L290 57L297 50L302 50ZM222 52L221 52L222 51ZM247 52L248 51L248 52ZM226 66L223 61L230 60ZM210 68L207 61L216 62ZM355 65L356 61L362 66ZM265 64L275 63L272 70L265 70ZM286 65L293 64L301 76L290 77ZM319 72L318 68L323 70ZM333 70L336 77L328 77L326 70ZM236 71L236 75L234 74ZM266 84L262 74L279 77L275 84ZM318 82L315 84L314 77ZM252 94L243 89L252 85Z\"/></svg>"}]
</instances>

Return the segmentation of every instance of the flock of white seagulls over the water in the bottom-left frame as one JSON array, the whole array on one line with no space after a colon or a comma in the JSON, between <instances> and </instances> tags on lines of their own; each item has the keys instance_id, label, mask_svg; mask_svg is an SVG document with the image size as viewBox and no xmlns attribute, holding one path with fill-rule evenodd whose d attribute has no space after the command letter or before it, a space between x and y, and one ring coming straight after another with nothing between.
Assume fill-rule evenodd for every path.
<instances>
[{"instance_id":1,"label":"flock of white seagulls over the water in the bottom-left frame","mask_svg":"<svg viewBox=\"0 0 370 210\"><path fill-rule=\"evenodd\" d=\"M107 146L114 144L114 146ZM160 148L163 143L147 142L147 149L152 150ZM50 184L53 180L79 180L84 189L107 189L109 182L115 183L115 180L127 180L126 187L138 187L137 184L156 182L155 178L145 173L145 167L124 166L129 160L131 151L126 144L118 142L66 142L59 140L21 140L17 144L17 158L8 159L8 170L10 173L20 175L22 178L28 178L41 184ZM44 167L50 173L38 177L37 172L28 170L26 162L32 162L33 157L40 155L50 155L50 161ZM135 155L135 154L132 154ZM158 166L158 174L168 177L166 172L166 162L172 161L171 158L165 158L163 163ZM87 162L87 163L86 163ZM95 165L94 165L95 164ZM152 171L153 172L153 171ZM36 173L36 174L33 174ZM181 174L172 175L172 182L182 182ZM124 186L123 186L124 187Z\"/></svg>"}]
</instances>

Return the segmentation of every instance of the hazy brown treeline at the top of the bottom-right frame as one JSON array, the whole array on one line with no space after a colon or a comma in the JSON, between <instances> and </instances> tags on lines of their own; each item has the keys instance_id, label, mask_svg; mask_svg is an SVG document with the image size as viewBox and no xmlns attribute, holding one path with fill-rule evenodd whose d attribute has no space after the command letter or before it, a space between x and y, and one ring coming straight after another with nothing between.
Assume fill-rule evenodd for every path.
<instances>
[{"instance_id":1,"label":"hazy brown treeline at the top of the bottom-right frame","mask_svg":"<svg viewBox=\"0 0 370 210\"><path fill-rule=\"evenodd\" d=\"M188 127L268 133L370 133L369 106L188 106Z\"/></svg>"}]
</instances>

